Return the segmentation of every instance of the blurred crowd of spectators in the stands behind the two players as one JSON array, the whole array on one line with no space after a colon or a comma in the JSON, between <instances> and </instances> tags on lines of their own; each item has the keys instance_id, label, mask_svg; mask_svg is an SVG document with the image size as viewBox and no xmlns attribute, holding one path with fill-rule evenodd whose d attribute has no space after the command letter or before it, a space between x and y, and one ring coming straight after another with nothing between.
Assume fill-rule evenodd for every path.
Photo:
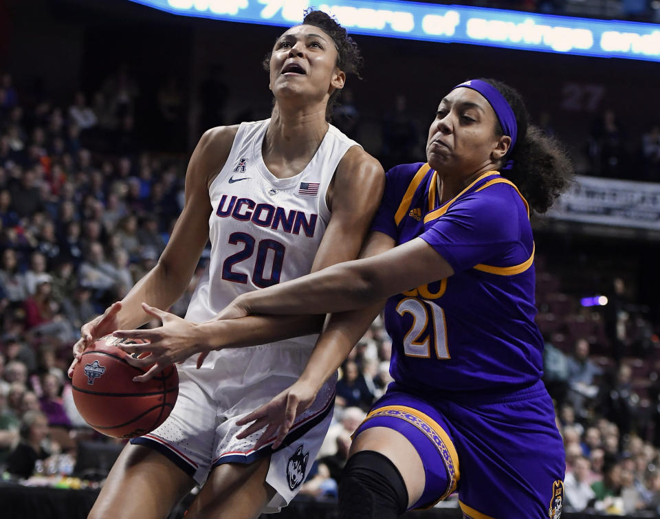
<instances>
[{"instance_id":1,"label":"blurred crowd of spectators in the stands behind the two players","mask_svg":"<svg viewBox=\"0 0 660 519\"><path fill-rule=\"evenodd\" d=\"M523 3L539 10L554 4ZM645 5L651 13L651 3ZM222 118L219 93L227 87L221 80L204 88L202 125L236 122ZM163 82L159 115L147 139L137 110L139 93L128 67L110 74L98 91L71 92L68 104L43 91L23 93L12 74L0 74L0 473L5 478L102 479L108 467L86 467L93 470L83 473L76 465L80 443L121 444L91 430L78 415L66 369L80 326L121 299L155 265L182 208L188 157L173 150L186 147L183 96L175 82ZM580 148L582 173L660 181L659 122L624 129L615 111L599 114ZM333 124L359 141L361 123L347 90ZM375 155L386 169L423 157L427 123L412 119L406 98L397 97L379 122ZM539 123L553 133L550 115ZM624 167L630 162L639 167ZM208 249L186 294L169 309L173 313L184 315L207 258ZM657 323L624 278L612 279L608 305L590 307L566 290L565 272L542 254L536 269L538 324L547 342L545 382L566 444L567 509L660 514ZM342 366L333 425L303 494L336 496L350 435L391 381L390 352L379 318Z\"/></svg>"}]
</instances>

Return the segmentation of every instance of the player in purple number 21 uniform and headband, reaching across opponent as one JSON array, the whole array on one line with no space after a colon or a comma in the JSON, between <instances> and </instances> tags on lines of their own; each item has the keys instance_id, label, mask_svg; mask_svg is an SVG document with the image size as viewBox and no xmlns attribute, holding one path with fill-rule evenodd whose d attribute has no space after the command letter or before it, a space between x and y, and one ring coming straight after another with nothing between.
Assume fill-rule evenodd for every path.
<instances>
[{"instance_id":1,"label":"player in purple number 21 uniform and headband, reaching across opponent","mask_svg":"<svg viewBox=\"0 0 660 519\"><path fill-rule=\"evenodd\" d=\"M458 491L466 518L558 519L564 449L541 381L529 214L551 206L571 164L494 80L441 100L426 152L388 171L364 258L223 312L333 313L298 382L241 419L241 435L283 441L387 298L394 382L355 432L340 517L396 518Z\"/></svg>"}]
</instances>

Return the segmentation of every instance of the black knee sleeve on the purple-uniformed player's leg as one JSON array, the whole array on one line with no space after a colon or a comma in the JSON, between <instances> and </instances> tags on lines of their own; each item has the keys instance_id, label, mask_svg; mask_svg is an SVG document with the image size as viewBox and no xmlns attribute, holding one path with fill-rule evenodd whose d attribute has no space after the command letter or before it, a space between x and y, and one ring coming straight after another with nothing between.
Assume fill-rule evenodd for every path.
<instances>
[{"instance_id":1,"label":"black knee sleeve on the purple-uniformed player's leg","mask_svg":"<svg viewBox=\"0 0 660 519\"><path fill-rule=\"evenodd\" d=\"M373 450L351 456L339 485L340 519L396 519L406 508L408 490L394 463Z\"/></svg>"}]
</instances>

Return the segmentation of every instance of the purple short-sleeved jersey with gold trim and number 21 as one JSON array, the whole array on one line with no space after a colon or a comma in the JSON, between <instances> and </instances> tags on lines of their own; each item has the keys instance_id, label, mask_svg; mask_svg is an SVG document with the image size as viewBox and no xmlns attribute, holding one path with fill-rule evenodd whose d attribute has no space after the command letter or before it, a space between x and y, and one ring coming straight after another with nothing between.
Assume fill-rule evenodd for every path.
<instances>
[{"instance_id":1,"label":"purple short-sleeved jersey with gold trim and number 21","mask_svg":"<svg viewBox=\"0 0 660 519\"><path fill-rule=\"evenodd\" d=\"M437 200L428 164L396 166L371 228L397 245L419 236L454 269L388 299L392 377L430 395L531 386L542 375L543 342L527 202L496 171L442 206Z\"/></svg>"}]
</instances>

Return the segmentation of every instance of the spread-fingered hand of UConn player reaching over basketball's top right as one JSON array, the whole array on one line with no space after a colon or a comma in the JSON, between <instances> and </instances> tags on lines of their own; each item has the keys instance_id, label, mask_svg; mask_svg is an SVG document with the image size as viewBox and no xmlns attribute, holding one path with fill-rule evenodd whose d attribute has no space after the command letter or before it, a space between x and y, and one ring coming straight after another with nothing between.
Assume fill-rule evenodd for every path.
<instances>
[{"instance_id":1,"label":"spread-fingered hand of UConn player reaching over basketball's top right","mask_svg":"<svg viewBox=\"0 0 660 519\"><path fill-rule=\"evenodd\" d=\"M131 353L125 357L126 362L136 368L147 370L144 375L135 377L134 382L146 382L167 366L175 362L180 364L191 355L203 351L197 325L194 322L151 307L145 302L142 303L142 309L148 315L161 320L163 325L144 330L117 330L112 334L118 338L148 341L148 344L117 344L119 349ZM142 356L143 353L151 353L151 355Z\"/></svg>"}]
</instances>

